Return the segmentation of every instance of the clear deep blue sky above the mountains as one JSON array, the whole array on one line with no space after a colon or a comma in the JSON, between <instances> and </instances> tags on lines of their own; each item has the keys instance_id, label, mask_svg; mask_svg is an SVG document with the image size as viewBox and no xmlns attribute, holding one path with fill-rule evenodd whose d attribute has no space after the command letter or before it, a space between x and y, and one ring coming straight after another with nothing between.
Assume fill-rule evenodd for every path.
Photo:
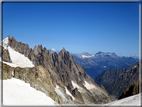
<instances>
[{"instance_id":1,"label":"clear deep blue sky above the mountains","mask_svg":"<svg viewBox=\"0 0 142 107\"><path fill-rule=\"evenodd\" d=\"M3 3L3 38L72 53L139 54L139 3Z\"/></svg>"}]
</instances>

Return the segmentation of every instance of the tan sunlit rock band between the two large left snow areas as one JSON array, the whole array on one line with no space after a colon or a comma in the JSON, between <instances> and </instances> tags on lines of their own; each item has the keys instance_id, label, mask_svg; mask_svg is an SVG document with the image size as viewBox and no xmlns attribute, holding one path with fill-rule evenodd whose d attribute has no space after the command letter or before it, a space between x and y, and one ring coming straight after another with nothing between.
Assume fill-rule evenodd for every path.
<instances>
[{"instance_id":1,"label":"tan sunlit rock band between the two large left snow areas","mask_svg":"<svg viewBox=\"0 0 142 107\"><path fill-rule=\"evenodd\" d=\"M56 94L49 72L42 66L33 68L10 67L3 63L3 79L17 78L29 83L31 87L44 92L54 101L62 104L62 98Z\"/></svg>"}]
</instances>

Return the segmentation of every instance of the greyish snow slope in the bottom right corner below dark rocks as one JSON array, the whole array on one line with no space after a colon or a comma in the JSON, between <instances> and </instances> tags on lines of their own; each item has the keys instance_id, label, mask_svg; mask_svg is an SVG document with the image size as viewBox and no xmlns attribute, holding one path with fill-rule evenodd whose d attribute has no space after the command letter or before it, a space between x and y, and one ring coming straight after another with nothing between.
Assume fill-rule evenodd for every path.
<instances>
[{"instance_id":1,"label":"greyish snow slope in the bottom right corner below dark rocks","mask_svg":"<svg viewBox=\"0 0 142 107\"><path fill-rule=\"evenodd\" d=\"M136 94L121 100L113 101L106 104L107 106L140 106L141 105L141 94Z\"/></svg>"}]
</instances>

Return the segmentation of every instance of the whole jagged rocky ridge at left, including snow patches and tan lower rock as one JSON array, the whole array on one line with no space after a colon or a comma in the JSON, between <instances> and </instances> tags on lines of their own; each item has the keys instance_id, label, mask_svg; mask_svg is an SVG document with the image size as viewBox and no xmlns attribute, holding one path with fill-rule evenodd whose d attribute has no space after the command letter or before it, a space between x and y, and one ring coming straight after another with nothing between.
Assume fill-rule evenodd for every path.
<instances>
[{"instance_id":1,"label":"whole jagged rocky ridge at left, including snow patches and tan lower rock","mask_svg":"<svg viewBox=\"0 0 142 107\"><path fill-rule=\"evenodd\" d=\"M3 40L1 48L4 80L16 78L25 81L58 104L113 101L105 88L96 84L65 48L58 54L51 53L42 45L31 49L28 44L10 36Z\"/></svg>"}]
</instances>

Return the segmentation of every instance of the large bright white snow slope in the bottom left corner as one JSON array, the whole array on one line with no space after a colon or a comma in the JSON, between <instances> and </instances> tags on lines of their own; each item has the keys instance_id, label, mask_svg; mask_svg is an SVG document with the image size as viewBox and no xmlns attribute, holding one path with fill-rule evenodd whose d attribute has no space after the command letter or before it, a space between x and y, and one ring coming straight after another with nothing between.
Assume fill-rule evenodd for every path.
<instances>
[{"instance_id":1,"label":"large bright white snow slope in the bottom left corner","mask_svg":"<svg viewBox=\"0 0 142 107\"><path fill-rule=\"evenodd\" d=\"M41 91L19 79L3 80L3 105L58 105Z\"/></svg>"}]
</instances>

